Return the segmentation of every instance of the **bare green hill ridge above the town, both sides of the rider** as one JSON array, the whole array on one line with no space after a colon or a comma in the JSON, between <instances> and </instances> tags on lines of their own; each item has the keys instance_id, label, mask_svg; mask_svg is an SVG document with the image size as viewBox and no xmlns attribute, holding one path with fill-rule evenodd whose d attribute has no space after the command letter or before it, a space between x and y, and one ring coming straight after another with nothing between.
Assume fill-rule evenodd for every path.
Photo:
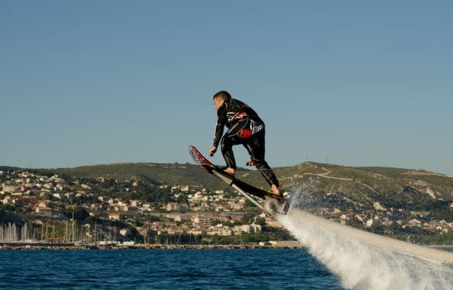
<instances>
[{"instance_id":1,"label":"bare green hill ridge above the town, both sides of the rider","mask_svg":"<svg viewBox=\"0 0 453 290\"><path fill-rule=\"evenodd\" d=\"M194 164L124 163L40 171L79 178L140 179L170 185L205 186L210 189L227 187ZM309 186L310 191L341 192L354 201L391 201L389 205L394 206L398 206L400 202L453 200L453 177L425 170L344 167L304 162L292 167L277 167L275 173L282 188L287 191L300 191ZM239 169L236 177L268 189L257 170Z\"/></svg>"}]
</instances>

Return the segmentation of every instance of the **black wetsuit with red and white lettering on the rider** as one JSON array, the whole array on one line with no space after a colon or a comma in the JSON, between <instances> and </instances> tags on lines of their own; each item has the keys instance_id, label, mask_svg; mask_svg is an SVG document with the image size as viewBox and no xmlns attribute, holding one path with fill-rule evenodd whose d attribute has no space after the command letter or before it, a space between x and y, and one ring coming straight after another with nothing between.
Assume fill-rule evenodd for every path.
<instances>
[{"instance_id":1,"label":"black wetsuit with red and white lettering on the rider","mask_svg":"<svg viewBox=\"0 0 453 290\"><path fill-rule=\"evenodd\" d=\"M224 126L228 132L222 137ZM214 133L214 147L222 146L226 166L236 169L233 145L242 144L251 155L251 160L260 170L268 184L279 186L277 177L264 160L265 126L253 108L236 99L225 101L217 109L217 126Z\"/></svg>"}]
</instances>

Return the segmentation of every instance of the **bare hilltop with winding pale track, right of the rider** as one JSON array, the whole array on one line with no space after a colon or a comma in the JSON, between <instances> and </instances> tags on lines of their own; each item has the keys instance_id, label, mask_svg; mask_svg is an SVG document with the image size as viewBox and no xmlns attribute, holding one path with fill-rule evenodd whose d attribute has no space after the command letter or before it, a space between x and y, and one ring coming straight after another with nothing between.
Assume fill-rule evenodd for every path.
<instances>
[{"instance_id":1,"label":"bare hilltop with winding pale track, right of the rider","mask_svg":"<svg viewBox=\"0 0 453 290\"><path fill-rule=\"evenodd\" d=\"M311 177L314 189L366 196L398 196L413 191L430 199L453 199L453 178L425 170L388 167L343 167L304 162L276 170L282 183L297 189ZM316 181L316 182L315 182ZM354 192L352 192L354 191ZM403 194L404 195L404 194ZM419 196L419 197L422 197ZM409 197L409 196L406 196Z\"/></svg>"}]
</instances>

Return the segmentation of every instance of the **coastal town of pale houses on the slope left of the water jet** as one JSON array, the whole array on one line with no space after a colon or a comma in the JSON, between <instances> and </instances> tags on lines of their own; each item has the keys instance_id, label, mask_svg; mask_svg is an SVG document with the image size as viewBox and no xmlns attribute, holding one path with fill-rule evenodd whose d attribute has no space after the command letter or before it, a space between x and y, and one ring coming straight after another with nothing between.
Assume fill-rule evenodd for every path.
<instances>
[{"instance_id":1,"label":"coastal town of pale houses on the slope left of the water jet","mask_svg":"<svg viewBox=\"0 0 453 290\"><path fill-rule=\"evenodd\" d=\"M260 233L263 226L280 226L264 213L244 211L246 199L223 190L163 184L154 186L162 199L147 202L106 196L93 184L68 182L58 175L47 177L19 170L2 171L0 177L1 211L20 214L33 223L33 227L28 225L29 233L21 230L23 235L12 235L6 230L8 223L1 222L0 242L168 243L193 238L194 243L210 243L209 237ZM137 192L141 183L96 179L96 184L108 182L121 184L125 193ZM55 230L55 224L60 224L59 230ZM179 241L174 240L176 234Z\"/></svg>"}]
</instances>

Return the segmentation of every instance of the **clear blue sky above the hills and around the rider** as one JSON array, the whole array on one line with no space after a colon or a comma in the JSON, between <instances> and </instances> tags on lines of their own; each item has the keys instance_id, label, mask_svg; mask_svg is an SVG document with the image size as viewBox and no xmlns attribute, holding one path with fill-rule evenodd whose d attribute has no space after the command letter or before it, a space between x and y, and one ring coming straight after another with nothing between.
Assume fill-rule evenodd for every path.
<instances>
[{"instance_id":1,"label":"clear blue sky above the hills and around the rider","mask_svg":"<svg viewBox=\"0 0 453 290\"><path fill-rule=\"evenodd\" d=\"M0 1L0 165L191 162L227 90L271 166L453 174L452 3Z\"/></svg>"}]
</instances>

